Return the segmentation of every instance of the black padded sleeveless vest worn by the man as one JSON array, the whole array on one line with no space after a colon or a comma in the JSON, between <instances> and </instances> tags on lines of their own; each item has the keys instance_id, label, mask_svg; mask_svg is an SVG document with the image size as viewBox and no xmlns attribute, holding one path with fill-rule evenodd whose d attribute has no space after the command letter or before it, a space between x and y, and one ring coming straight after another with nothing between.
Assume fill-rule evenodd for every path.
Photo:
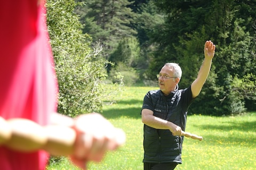
<instances>
[{"instance_id":1,"label":"black padded sleeveless vest worn by the man","mask_svg":"<svg viewBox=\"0 0 256 170\"><path fill-rule=\"evenodd\" d=\"M185 89L188 90L188 89ZM147 98L154 107L154 116L170 121L186 128L187 109L191 103L185 90L175 90L169 96L164 96L161 90L149 91ZM145 98L146 98L145 96ZM186 98L184 100L184 98ZM190 97L191 98L191 97ZM189 101L189 102L188 102ZM142 107L143 109L143 107ZM154 129L144 124L144 159L145 163L182 163L181 151L183 137L173 136L170 130Z\"/></svg>"}]
</instances>

